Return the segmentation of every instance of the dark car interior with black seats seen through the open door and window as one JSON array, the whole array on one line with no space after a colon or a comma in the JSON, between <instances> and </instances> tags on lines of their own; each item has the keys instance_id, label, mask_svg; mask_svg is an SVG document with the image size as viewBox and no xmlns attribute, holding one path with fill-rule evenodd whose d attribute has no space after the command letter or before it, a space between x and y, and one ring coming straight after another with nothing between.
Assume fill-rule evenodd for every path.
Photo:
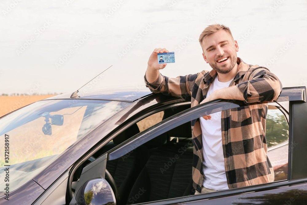
<instances>
[{"instance_id":1,"label":"dark car interior with black seats seen through the open door and window","mask_svg":"<svg viewBox=\"0 0 307 205\"><path fill-rule=\"evenodd\" d=\"M190 105L182 105L176 109L165 109L161 120L189 107ZM95 152L93 157L102 156L139 132L137 123L129 126ZM106 168L118 190L117 204L144 203L194 194L192 161L190 122L164 132L122 157L107 161ZM73 181L79 178L81 167L75 172Z\"/></svg>"}]
</instances>

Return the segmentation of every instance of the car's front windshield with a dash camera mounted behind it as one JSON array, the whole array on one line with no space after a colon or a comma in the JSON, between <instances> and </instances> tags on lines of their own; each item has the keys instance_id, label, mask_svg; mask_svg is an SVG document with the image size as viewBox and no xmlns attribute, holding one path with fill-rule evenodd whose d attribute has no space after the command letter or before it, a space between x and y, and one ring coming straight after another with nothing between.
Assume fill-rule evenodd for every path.
<instances>
[{"instance_id":1,"label":"car's front windshield with a dash camera mounted behind it","mask_svg":"<svg viewBox=\"0 0 307 205\"><path fill-rule=\"evenodd\" d=\"M38 101L0 119L0 195L22 186L84 134L130 103L64 99ZM8 166L9 165L9 166Z\"/></svg>"}]
</instances>

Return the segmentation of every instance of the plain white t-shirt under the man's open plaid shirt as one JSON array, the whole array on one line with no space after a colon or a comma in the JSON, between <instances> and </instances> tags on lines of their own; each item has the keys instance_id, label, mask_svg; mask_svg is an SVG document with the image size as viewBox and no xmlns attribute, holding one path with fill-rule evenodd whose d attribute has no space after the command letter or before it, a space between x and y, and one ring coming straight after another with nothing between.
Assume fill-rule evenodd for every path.
<instances>
[{"instance_id":1,"label":"plain white t-shirt under the man's open plaid shirt","mask_svg":"<svg viewBox=\"0 0 307 205\"><path fill-rule=\"evenodd\" d=\"M207 97L215 90L228 87L231 81L223 83L216 77L209 87ZM210 115L211 120L205 120L200 117L204 156L203 186L214 190L228 189L222 147L222 112L216 112Z\"/></svg>"}]
</instances>

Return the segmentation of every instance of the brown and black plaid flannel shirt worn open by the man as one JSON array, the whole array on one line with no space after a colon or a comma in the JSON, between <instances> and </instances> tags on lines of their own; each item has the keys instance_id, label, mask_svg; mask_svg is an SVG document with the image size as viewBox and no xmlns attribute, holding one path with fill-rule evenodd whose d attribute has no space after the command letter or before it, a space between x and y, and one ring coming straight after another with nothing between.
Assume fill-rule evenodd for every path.
<instances>
[{"instance_id":1,"label":"brown and black plaid flannel shirt worn open by the man","mask_svg":"<svg viewBox=\"0 0 307 205\"><path fill-rule=\"evenodd\" d=\"M267 103L274 101L282 90L279 79L267 68L248 65L239 57L238 72L229 86L237 86L243 93L244 107L222 111L221 129L225 171L229 188L244 187L274 181L274 170L267 157ZM191 107L206 98L209 86L216 77L215 70L169 78L159 75L146 86L153 93L163 93L191 101ZM258 103L263 102L263 103ZM193 187L201 192L203 182L203 152L200 120L191 121L194 144Z\"/></svg>"}]
</instances>

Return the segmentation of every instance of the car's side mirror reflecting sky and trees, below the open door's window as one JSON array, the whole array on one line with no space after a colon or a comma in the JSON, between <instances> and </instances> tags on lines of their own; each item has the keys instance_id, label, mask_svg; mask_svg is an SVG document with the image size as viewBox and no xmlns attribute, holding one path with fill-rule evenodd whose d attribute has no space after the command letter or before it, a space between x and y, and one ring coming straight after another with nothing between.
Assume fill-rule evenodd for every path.
<instances>
[{"instance_id":1,"label":"car's side mirror reflecting sky and trees, below the open door's window","mask_svg":"<svg viewBox=\"0 0 307 205\"><path fill-rule=\"evenodd\" d=\"M116 205L115 195L104 178L90 179L74 195L70 204L76 205Z\"/></svg>"}]
</instances>

